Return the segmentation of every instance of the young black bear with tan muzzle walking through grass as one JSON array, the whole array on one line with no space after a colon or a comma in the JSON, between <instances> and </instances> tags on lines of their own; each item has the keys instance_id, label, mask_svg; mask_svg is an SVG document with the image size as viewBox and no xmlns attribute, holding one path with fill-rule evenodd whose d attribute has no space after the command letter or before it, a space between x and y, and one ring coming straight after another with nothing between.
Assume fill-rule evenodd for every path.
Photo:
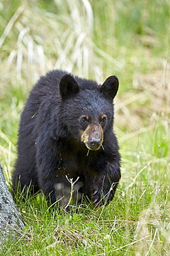
<instances>
[{"instance_id":1,"label":"young black bear with tan muzzle walking through grass","mask_svg":"<svg viewBox=\"0 0 170 256\"><path fill-rule=\"evenodd\" d=\"M102 85L59 70L41 77L21 115L14 191L18 181L21 190L31 184L62 206L70 196L77 204L83 195L94 205L113 199L120 180L117 91L114 75Z\"/></svg>"}]
</instances>

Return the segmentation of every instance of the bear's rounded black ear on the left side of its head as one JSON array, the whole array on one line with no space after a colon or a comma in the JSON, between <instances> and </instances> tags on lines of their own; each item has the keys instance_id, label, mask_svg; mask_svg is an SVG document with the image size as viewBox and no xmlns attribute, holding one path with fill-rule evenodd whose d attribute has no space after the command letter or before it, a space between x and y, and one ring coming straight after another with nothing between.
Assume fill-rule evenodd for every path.
<instances>
[{"instance_id":1,"label":"bear's rounded black ear on the left side of its head","mask_svg":"<svg viewBox=\"0 0 170 256\"><path fill-rule=\"evenodd\" d=\"M72 75L64 75L61 78L59 89L63 99L71 98L79 91L78 84Z\"/></svg>"}]
</instances>

